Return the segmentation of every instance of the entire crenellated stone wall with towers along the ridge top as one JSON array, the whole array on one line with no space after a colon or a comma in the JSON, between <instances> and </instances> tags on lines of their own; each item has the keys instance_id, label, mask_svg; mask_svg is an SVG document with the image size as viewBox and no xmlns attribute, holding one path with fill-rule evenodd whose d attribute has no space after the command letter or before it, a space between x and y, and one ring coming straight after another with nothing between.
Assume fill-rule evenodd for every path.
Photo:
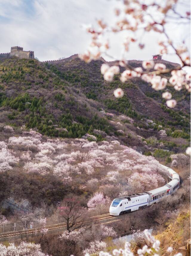
<instances>
[{"instance_id":1,"label":"entire crenellated stone wall with towers along the ridge top","mask_svg":"<svg viewBox=\"0 0 191 256\"><path fill-rule=\"evenodd\" d=\"M11 47L11 51L7 52L7 53L0 53L0 60L3 59L7 59L7 58L11 58L13 56L16 56L18 58L26 58L26 59L34 59L34 52L33 51L23 51L23 48L20 46L13 46ZM70 57L67 58L63 58L63 59L58 59L58 60L51 60L51 61L41 61L42 63L62 63L65 61L71 61L73 59L78 58L78 54L74 54L71 55ZM107 63L109 65L115 65L118 64L118 60L115 61L106 61L103 57L100 57L99 60L103 61L104 63ZM157 54L157 55L153 55L153 60L155 62L159 62L159 63L164 63L164 64L170 64L174 67L180 66L179 63L175 63L175 62L171 62L171 61L166 61L162 59L162 55ZM141 62L143 62L143 60L128 60L128 62L133 62L136 64L141 64Z\"/></svg>"}]
</instances>

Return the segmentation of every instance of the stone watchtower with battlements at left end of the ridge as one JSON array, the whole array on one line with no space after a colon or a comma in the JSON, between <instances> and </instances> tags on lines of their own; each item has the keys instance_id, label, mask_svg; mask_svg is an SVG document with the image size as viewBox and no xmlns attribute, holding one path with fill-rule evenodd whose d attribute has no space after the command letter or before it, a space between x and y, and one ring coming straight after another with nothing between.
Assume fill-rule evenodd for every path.
<instances>
[{"instance_id":1,"label":"stone watchtower with battlements at left end of the ridge","mask_svg":"<svg viewBox=\"0 0 191 256\"><path fill-rule=\"evenodd\" d=\"M34 59L34 52L33 51L23 51L23 47L20 46L12 46L11 51L7 53L1 53L0 54L0 60L1 59L8 59L13 56L16 56L20 59Z\"/></svg>"}]
</instances>

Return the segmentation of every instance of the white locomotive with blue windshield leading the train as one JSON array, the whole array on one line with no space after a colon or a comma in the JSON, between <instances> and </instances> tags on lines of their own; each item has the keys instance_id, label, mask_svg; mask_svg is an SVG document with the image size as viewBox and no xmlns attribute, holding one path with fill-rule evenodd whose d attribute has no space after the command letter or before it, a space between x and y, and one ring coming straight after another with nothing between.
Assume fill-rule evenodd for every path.
<instances>
[{"instance_id":1,"label":"white locomotive with blue windshield leading the train","mask_svg":"<svg viewBox=\"0 0 191 256\"><path fill-rule=\"evenodd\" d=\"M147 192L115 198L110 205L110 215L121 215L147 207L149 194Z\"/></svg>"}]
</instances>

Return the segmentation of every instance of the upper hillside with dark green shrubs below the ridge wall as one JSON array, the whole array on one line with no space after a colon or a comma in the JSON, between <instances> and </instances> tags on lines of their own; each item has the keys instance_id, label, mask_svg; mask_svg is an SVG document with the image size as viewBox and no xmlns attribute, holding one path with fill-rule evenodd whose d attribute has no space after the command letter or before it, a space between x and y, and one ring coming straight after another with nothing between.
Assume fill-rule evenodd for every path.
<instances>
[{"instance_id":1,"label":"upper hillside with dark green shrubs below the ridge wall","mask_svg":"<svg viewBox=\"0 0 191 256\"><path fill-rule=\"evenodd\" d=\"M101 64L78 58L58 64L17 58L1 62L1 122L52 137L81 138L88 133L100 141L114 136L142 152L155 147L183 152L190 138L189 93L169 86L178 101L172 110L161 91L139 78L121 83L115 75L113 82L105 82ZM121 99L113 96L117 87L125 92Z\"/></svg>"}]
</instances>

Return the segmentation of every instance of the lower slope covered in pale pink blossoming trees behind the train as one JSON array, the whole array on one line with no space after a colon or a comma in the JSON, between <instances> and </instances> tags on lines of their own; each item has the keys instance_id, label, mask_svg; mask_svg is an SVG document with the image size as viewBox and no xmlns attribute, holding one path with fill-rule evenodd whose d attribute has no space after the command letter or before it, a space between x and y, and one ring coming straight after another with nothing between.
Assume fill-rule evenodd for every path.
<instances>
[{"instance_id":1,"label":"lower slope covered in pale pink blossoming trees behind the train","mask_svg":"<svg viewBox=\"0 0 191 256\"><path fill-rule=\"evenodd\" d=\"M92 209L108 205L117 196L144 192L165 183L165 172L153 156L141 155L116 140L97 143L84 138L54 139L32 129L9 126L3 128L3 133L0 177L4 200L15 191L15 199L27 198L30 206L40 206L43 201L56 205L73 191L84 194L86 206ZM8 186L13 177L18 183L23 178L24 184L16 185L13 180ZM56 197L51 191L47 193L49 179L55 182ZM37 180L45 190L43 195L36 187ZM38 193L41 195L37 200Z\"/></svg>"}]
</instances>

